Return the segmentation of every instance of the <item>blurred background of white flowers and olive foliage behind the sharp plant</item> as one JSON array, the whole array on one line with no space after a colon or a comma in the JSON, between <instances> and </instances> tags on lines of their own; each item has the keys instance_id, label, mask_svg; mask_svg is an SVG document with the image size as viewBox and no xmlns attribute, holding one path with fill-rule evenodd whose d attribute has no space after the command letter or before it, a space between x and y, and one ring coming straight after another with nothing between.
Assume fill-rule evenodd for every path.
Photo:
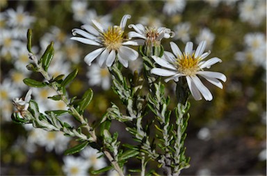
<instances>
[{"instance_id":1,"label":"blurred background of white flowers and olive foliage behind the sharp plant","mask_svg":"<svg viewBox=\"0 0 267 176\"><path fill-rule=\"evenodd\" d=\"M108 71L94 64L88 67L83 62L94 47L71 41L72 28L90 24L90 19L118 25L125 14L131 15L127 24L165 26L175 31L174 38L162 41L166 51L170 51L170 41L184 50L186 42L192 41L196 48L206 39L206 50L211 50L209 58L223 60L211 68L227 76L223 90L205 82L213 100L190 98L191 118L185 146L191 167L181 174L266 175L266 1L1 0L0 6L1 175L71 175L66 169L72 165L71 160L83 157L74 155L66 159L63 155L65 149L76 143L73 139L11 121L12 99L24 96L29 89L22 80L39 76L25 68L29 63L27 29L33 29L36 55L42 55L54 41L51 75L79 68L68 91L70 96L81 96L92 87L94 97L86 111L88 121L92 122L111 107L111 101L120 105L120 100L111 90ZM128 71L140 71L141 64L138 58ZM172 82L166 87L168 95L174 97ZM49 89L33 89L33 99L39 103L40 111L67 108L58 101L47 100L52 94ZM170 107L174 106L172 100ZM63 118L72 123L70 116ZM115 128L120 132L124 127L116 123ZM127 141L129 136L122 134L120 140ZM127 167L134 168L134 164Z\"/></svg>"}]
</instances>

